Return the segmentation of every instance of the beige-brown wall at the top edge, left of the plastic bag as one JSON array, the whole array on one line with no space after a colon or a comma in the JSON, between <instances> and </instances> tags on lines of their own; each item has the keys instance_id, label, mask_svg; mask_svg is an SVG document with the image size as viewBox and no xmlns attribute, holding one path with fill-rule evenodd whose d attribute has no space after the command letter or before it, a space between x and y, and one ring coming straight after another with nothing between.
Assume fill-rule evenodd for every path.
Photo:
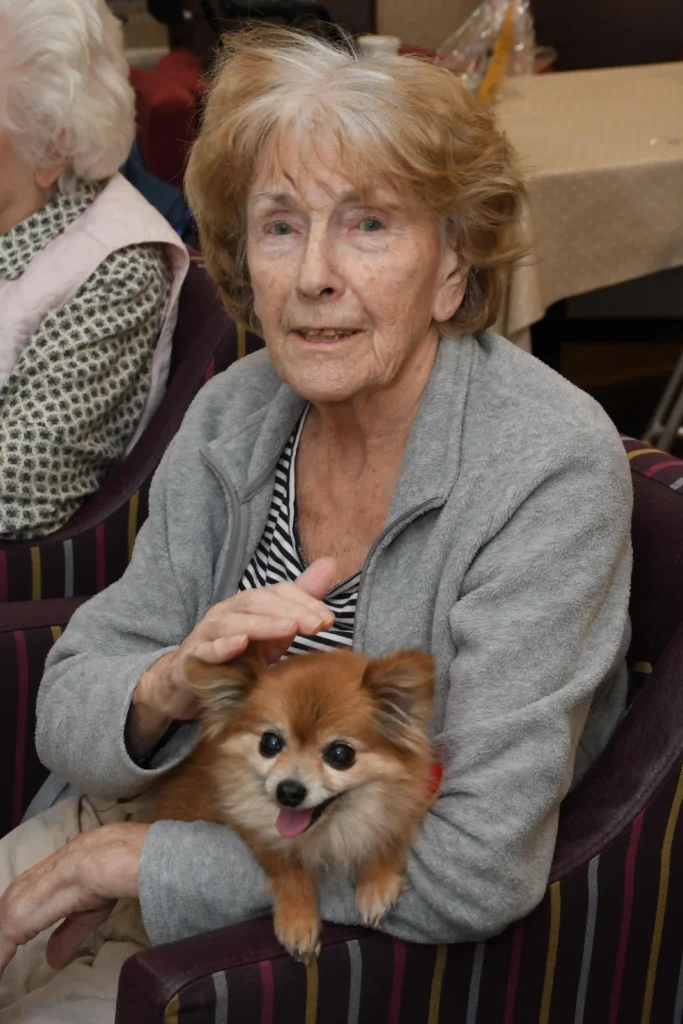
<instances>
[{"instance_id":1,"label":"beige-brown wall at the top edge, left of the plastic bag","mask_svg":"<svg viewBox=\"0 0 683 1024\"><path fill-rule=\"evenodd\" d=\"M477 0L377 0L377 31L436 49L477 6Z\"/></svg>"}]
</instances>

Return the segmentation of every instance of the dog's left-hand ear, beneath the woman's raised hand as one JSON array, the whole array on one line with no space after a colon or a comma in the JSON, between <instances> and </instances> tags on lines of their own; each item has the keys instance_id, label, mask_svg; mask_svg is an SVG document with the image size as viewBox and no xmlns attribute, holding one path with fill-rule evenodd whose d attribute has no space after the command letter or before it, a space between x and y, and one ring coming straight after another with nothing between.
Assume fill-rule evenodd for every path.
<instances>
[{"instance_id":1,"label":"dog's left-hand ear, beneath the woman's raised hand","mask_svg":"<svg viewBox=\"0 0 683 1024\"><path fill-rule=\"evenodd\" d=\"M187 658L187 679L202 709L202 717L214 725L224 725L242 710L245 700L265 669L255 654L241 654L225 665L209 665L199 657Z\"/></svg>"}]
</instances>

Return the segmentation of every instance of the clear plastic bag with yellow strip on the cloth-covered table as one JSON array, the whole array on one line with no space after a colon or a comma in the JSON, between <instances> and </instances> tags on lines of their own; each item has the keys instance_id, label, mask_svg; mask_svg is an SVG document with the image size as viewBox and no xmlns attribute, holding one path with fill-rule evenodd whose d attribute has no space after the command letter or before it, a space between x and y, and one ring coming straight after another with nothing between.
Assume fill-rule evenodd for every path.
<instances>
[{"instance_id":1,"label":"clear plastic bag with yellow strip on the cloth-covered table","mask_svg":"<svg viewBox=\"0 0 683 1024\"><path fill-rule=\"evenodd\" d=\"M443 65L483 102L504 75L530 75L536 37L529 0L484 0L436 51Z\"/></svg>"}]
</instances>

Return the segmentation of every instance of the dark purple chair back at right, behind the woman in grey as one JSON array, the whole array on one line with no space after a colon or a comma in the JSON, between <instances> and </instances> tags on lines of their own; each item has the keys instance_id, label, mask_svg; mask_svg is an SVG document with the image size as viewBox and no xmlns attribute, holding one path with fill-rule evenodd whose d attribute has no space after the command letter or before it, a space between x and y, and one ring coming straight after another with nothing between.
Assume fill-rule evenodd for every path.
<instances>
[{"instance_id":1,"label":"dark purple chair back at right, behind the woman in grey","mask_svg":"<svg viewBox=\"0 0 683 1024\"><path fill-rule=\"evenodd\" d=\"M683 759L683 462L624 438L634 490L629 713L565 798L551 880L628 827ZM674 780L675 781L675 780Z\"/></svg>"}]
</instances>

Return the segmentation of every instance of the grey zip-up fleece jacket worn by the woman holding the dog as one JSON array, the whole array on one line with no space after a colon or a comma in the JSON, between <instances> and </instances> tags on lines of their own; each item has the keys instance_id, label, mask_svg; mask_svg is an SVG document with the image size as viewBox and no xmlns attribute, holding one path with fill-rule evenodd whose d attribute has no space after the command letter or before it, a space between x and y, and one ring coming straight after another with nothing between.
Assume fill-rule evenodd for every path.
<instances>
[{"instance_id":1,"label":"grey zip-up fleece jacket worn by the woman holding the dog","mask_svg":"<svg viewBox=\"0 0 683 1024\"><path fill-rule=\"evenodd\" d=\"M236 593L303 404L265 352L211 381L157 472L126 574L55 644L38 751L83 792L132 796L196 742L185 724L152 769L137 766L124 741L131 694ZM437 666L442 792L387 932L480 940L542 898L560 801L625 707L631 502L620 439L590 397L496 335L441 341L354 631L358 650L424 647ZM153 942L270 905L243 841L205 822L152 826L139 891ZM350 882L329 878L321 909L356 923Z\"/></svg>"}]
</instances>

